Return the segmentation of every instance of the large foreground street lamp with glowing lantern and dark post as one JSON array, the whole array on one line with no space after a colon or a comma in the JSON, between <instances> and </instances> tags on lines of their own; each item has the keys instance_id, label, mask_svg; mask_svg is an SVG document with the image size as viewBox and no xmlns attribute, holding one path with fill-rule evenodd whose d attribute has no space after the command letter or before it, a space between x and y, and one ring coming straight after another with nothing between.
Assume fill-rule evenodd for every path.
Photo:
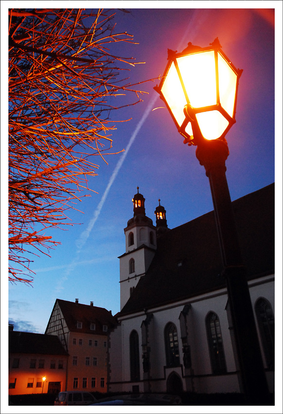
<instances>
[{"instance_id":1,"label":"large foreground street lamp with glowing lantern and dark post","mask_svg":"<svg viewBox=\"0 0 283 414\"><path fill-rule=\"evenodd\" d=\"M222 52L218 38L206 48L188 43L181 53L168 49L168 64L154 89L184 143L197 146L196 157L210 181L238 380L241 392L254 403L268 395L268 386L225 173L229 155L225 135L236 122L242 72Z\"/></svg>"}]
</instances>

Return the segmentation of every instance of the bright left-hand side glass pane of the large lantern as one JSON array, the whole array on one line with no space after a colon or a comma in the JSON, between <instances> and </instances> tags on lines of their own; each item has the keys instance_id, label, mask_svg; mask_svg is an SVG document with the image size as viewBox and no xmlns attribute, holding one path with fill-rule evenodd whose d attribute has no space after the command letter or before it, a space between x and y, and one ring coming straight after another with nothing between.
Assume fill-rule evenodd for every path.
<instances>
[{"instance_id":1,"label":"bright left-hand side glass pane of the large lantern","mask_svg":"<svg viewBox=\"0 0 283 414\"><path fill-rule=\"evenodd\" d=\"M184 106L187 101L174 62L171 63L170 69L161 87L161 92L178 125L181 126L185 119Z\"/></svg>"}]
</instances>

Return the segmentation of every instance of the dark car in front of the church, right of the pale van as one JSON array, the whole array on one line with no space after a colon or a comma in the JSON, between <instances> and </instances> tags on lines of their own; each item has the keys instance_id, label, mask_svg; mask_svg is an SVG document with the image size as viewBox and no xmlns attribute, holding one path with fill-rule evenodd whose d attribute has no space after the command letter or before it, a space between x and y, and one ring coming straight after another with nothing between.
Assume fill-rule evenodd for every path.
<instances>
[{"instance_id":1,"label":"dark car in front of the church, right of the pale van","mask_svg":"<svg viewBox=\"0 0 283 414\"><path fill-rule=\"evenodd\" d=\"M103 398L90 405L182 405L182 400L169 394L127 394Z\"/></svg>"}]
</instances>

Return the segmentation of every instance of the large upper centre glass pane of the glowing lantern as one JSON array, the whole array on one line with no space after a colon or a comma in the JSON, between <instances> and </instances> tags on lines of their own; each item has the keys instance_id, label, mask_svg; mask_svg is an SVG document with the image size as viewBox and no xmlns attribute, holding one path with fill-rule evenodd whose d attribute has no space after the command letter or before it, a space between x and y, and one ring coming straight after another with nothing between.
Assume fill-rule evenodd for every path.
<instances>
[{"instance_id":1,"label":"large upper centre glass pane of the glowing lantern","mask_svg":"<svg viewBox=\"0 0 283 414\"><path fill-rule=\"evenodd\" d=\"M214 51L177 58L179 70L191 105L202 108L216 104Z\"/></svg>"}]
</instances>

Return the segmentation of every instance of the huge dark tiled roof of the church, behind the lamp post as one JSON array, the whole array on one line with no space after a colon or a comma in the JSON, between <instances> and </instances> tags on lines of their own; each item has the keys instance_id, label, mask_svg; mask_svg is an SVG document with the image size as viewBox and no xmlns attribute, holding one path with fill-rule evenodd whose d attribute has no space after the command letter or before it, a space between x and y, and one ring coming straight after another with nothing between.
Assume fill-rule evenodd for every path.
<instances>
[{"instance_id":1,"label":"huge dark tiled roof of the church, behind the lamp post","mask_svg":"<svg viewBox=\"0 0 283 414\"><path fill-rule=\"evenodd\" d=\"M232 205L248 279L274 272L274 183L235 200ZM160 236L146 275L116 316L222 288L225 280L221 272L211 211Z\"/></svg>"}]
</instances>

